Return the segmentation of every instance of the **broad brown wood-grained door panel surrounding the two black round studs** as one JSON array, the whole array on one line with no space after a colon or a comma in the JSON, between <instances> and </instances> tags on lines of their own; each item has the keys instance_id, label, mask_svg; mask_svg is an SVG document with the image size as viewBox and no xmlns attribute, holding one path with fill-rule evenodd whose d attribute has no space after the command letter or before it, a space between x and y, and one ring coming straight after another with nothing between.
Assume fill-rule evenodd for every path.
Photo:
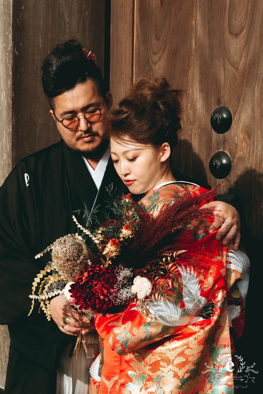
<instances>
[{"instance_id":1,"label":"broad brown wood-grained door panel surrounding the two black round studs","mask_svg":"<svg viewBox=\"0 0 263 394\"><path fill-rule=\"evenodd\" d=\"M239 0L143 0L135 2L134 20L134 77L165 76L185 90L175 166L214 185L210 157L227 152L232 169L220 191L240 196L254 237L262 237L263 2L243 0L240 7ZM220 135L210 115L222 104L233 123Z\"/></svg>"}]
</instances>

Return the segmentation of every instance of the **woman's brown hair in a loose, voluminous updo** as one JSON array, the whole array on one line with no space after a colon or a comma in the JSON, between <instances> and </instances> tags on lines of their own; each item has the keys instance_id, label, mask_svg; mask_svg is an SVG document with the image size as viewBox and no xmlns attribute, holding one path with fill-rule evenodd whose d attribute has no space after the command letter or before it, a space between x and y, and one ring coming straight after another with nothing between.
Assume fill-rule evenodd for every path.
<instances>
[{"instance_id":1,"label":"woman's brown hair in a loose, voluminous updo","mask_svg":"<svg viewBox=\"0 0 263 394\"><path fill-rule=\"evenodd\" d=\"M110 136L160 146L177 145L180 132L182 91L172 89L165 78L141 77L110 110Z\"/></svg>"}]
</instances>

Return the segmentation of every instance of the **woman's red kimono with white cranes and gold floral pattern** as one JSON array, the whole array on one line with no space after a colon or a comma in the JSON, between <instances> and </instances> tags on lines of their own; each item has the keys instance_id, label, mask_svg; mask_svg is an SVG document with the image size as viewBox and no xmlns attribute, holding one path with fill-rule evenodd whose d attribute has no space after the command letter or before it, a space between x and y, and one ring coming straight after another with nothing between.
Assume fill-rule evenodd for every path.
<instances>
[{"instance_id":1,"label":"woman's red kimono with white cranes and gold floral pattern","mask_svg":"<svg viewBox=\"0 0 263 394\"><path fill-rule=\"evenodd\" d=\"M205 191L182 183L180 187L193 195ZM145 206L153 207L153 195L154 202L159 197L154 207L158 214L162 204L180 197L178 184L150 192L142 200ZM227 363L237 361L233 338L244 327L250 263L243 251L216 241L216 232L209 234L207 225L176 262L185 287L173 326L138 312L135 301L122 313L95 316L101 351L90 367L90 394L233 393L233 367ZM215 304L211 318L192 316L186 322L183 305L191 309L202 297ZM163 304L165 316L168 304Z\"/></svg>"}]
</instances>

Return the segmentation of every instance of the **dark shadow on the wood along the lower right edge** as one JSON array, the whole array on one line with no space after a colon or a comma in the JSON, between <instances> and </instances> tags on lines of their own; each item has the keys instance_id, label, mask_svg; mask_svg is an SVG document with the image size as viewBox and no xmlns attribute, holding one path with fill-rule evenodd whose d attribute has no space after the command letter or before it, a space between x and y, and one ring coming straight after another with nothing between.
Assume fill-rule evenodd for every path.
<instances>
[{"instance_id":1,"label":"dark shadow on the wood along the lower right edge","mask_svg":"<svg viewBox=\"0 0 263 394\"><path fill-rule=\"evenodd\" d=\"M254 169L245 171L239 179L229 188L229 193L235 193L239 196L242 211L241 212L241 243L250 258L250 279L248 286L248 295L246 297L246 322L244 331L236 344L237 355L241 355L246 362L246 366L255 362L254 370L260 373L261 361L259 355L260 334L258 332L257 317L259 294L261 284L262 269L262 252L260 245L263 241L263 217L262 217L262 196L263 196L263 174L257 173ZM258 374L250 373L250 377L255 377L255 384L250 383L248 390L259 392ZM237 391L239 394L241 390ZM244 392L244 389L243 389ZM252 391L251 391L252 392Z\"/></svg>"}]
</instances>

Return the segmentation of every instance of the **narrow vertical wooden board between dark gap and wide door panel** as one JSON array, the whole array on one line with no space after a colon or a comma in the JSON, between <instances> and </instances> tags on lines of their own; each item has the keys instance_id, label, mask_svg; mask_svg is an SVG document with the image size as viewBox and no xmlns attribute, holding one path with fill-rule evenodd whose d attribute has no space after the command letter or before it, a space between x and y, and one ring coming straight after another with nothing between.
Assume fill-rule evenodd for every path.
<instances>
[{"instance_id":1,"label":"narrow vertical wooden board between dark gap and wide door panel","mask_svg":"<svg viewBox=\"0 0 263 394\"><path fill-rule=\"evenodd\" d=\"M111 82L113 102L130 87L133 77L133 0L111 0Z\"/></svg>"}]
</instances>

